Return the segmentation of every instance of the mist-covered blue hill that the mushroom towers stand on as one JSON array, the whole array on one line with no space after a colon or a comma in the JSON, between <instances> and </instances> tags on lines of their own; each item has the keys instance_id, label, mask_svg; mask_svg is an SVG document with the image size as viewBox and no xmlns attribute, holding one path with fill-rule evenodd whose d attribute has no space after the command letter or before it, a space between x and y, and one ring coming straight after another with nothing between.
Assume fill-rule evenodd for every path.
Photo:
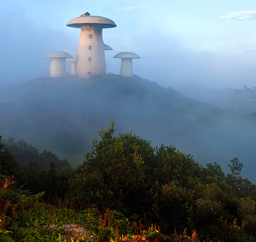
<instances>
[{"instance_id":1,"label":"mist-covered blue hill that the mushroom towers stand on","mask_svg":"<svg viewBox=\"0 0 256 242\"><path fill-rule=\"evenodd\" d=\"M0 94L3 138L24 139L73 164L83 161L98 131L114 121L116 132L134 132L154 146L176 146L202 164L224 164L224 171L239 157L246 176L254 178L254 119L136 75L40 77Z\"/></svg>"}]
</instances>

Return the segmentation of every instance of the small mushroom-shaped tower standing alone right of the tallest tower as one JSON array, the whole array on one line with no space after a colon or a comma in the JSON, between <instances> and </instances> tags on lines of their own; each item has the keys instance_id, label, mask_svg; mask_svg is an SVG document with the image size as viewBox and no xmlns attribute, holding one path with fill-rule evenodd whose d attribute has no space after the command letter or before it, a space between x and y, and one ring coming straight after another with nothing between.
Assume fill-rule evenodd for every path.
<instances>
[{"instance_id":1,"label":"small mushroom-shaped tower standing alone right of the tallest tower","mask_svg":"<svg viewBox=\"0 0 256 242\"><path fill-rule=\"evenodd\" d=\"M120 52L113 58L121 58L121 69L119 75L133 77L133 58L140 58L133 52Z\"/></svg>"}]
</instances>

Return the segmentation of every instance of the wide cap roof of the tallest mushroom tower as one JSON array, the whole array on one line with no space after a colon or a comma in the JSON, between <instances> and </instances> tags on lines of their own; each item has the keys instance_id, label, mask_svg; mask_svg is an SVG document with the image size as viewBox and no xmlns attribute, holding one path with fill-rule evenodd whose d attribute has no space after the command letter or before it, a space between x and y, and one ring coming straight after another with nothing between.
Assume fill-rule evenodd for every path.
<instances>
[{"instance_id":1,"label":"wide cap roof of the tallest mushroom tower","mask_svg":"<svg viewBox=\"0 0 256 242\"><path fill-rule=\"evenodd\" d=\"M91 16L89 13L82 14L78 18L73 18L68 22L68 27L81 28L83 25L99 25L101 28L115 28L116 24L109 18L101 16Z\"/></svg>"}]
</instances>

